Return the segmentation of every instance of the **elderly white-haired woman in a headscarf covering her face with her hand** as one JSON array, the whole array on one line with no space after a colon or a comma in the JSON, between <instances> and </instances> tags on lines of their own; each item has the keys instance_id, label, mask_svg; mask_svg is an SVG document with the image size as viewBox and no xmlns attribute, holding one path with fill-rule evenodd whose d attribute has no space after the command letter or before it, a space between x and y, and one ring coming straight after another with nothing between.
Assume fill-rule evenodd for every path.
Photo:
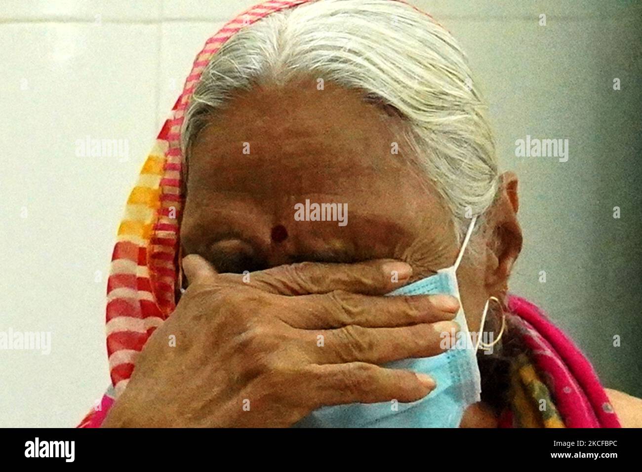
<instances>
[{"instance_id":1,"label":"elderly white-haired woman in a headscarf covering her face with her hand","mask_svg":"<svg viewBox=\"0 0 642 472\"><path fill-rule=\"evenodd\" d=\"M128 200L80 426L642 426L507 293L517 178L484 109L401 1L229 22Z\"/></svg>"}]
</instances>

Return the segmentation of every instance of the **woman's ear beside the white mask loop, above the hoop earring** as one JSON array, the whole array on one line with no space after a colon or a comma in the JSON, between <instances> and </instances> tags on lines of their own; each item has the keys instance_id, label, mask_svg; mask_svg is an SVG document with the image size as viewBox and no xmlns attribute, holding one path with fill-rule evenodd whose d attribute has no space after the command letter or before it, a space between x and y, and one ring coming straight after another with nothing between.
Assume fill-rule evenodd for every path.
<instances>
[{"instance_id":1,"label":"woman's ear beside the white mask loop, above the hoop earring","mask_svg":"<svg viewBox=\"0 0 642 472\"><path fill-rule=\"evenodd\" d=\"M485 284L490 295L505 294L510 271L521 251L518 208L517 175L505 172L501 175L499 196L488 212L492 233L488 241Z\"/></svg>"}]
</instances>

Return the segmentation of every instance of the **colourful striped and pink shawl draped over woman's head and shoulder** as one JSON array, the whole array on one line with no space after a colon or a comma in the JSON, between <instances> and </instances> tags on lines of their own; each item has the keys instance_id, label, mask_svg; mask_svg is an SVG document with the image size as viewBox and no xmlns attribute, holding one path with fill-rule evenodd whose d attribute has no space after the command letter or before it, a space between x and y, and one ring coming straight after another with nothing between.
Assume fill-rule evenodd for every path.
<instances>
[{"instance_id":1,"label":"colourful striped and pink shawl draped over woman's head and shoulder","mask_svg":"<svg viewBox=\"0 0 642 472\"><path fill-rule=\"evenodd\" d=\"M78 425L100 426L134 371L135 356L176 306L183 156L180 130L187 105L210 58L236 31L286 8L315 0L266 1L227 22L196 56L193 68L127 200L107 283L107 354L112 383ZM401 1L401 0L391 0ZM591 365L537 308L509 300L530 357L516 360L510 411L503 426L619 426ZM542 411L542 399L547 406Z\"/></svg>"}]
</instances>

